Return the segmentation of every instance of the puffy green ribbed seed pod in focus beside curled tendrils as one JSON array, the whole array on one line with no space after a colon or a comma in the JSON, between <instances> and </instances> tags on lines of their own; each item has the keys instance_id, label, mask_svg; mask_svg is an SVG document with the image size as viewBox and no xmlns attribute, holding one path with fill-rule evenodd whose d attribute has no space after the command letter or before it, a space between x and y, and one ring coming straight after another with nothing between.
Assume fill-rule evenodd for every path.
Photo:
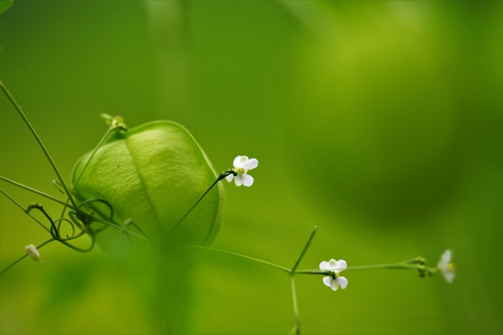
<instances>
[{"instance_id":1,"label":"puffy green ribbed seed pod in focus beside curled tendrils","mask_svg":"<svg viewBox=\"0 0 503 335\"><path fill-rule=\"evenodd\" d=\"M72 172L75 182L91 153L82 156ZM192 135L169 121L150 122L117 132L92 158L75 186L79 200L101 198L114 209L114 221L134 221L157 245L177 243L208 245L221 222L223 187L218 183L171 236L169 232L208 186L217 178L211 163ZM106 207L98 212L107 213ZM106 215L105 215L106 216ZM131 225L128 229L138 233ZM124 241L138 240L118 229L97 235L105 251Z\"/></svg>"}]
</instances>

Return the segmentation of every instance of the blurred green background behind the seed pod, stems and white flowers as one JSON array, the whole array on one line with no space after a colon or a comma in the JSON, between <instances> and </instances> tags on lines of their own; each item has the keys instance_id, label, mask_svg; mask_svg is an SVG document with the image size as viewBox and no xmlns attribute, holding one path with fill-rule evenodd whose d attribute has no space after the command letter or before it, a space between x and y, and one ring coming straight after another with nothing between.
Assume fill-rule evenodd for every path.
<instances>
[{"instance_id":1,"label":"blurred green background behind the seed pod, stems and white flowers","mask_svg":"<svg viewBox=\"0 0 503 335\"><path fill-rule=\"evenodd\" d=\"M333 292L298 276L304 333L501 333L502 5L18 1L1 17L1 77L67 180L104 134L101 113L130 127L179 122L218 171L237 155L258 158L252 187L223 181L216 248L291 267L317 225L301 268L418 255L434 266L454 251L452 285L347 271L347 289ZM4 95L1 107L1 174L58 196ZM4 268L47 236L0 201ZM290 331L288 276L201 257L173 274L191 292L188 332ZM53 244L42 258L0 278L0 332L153 331L142 280L99 248Z\"/></svg>"}]
</instances>

